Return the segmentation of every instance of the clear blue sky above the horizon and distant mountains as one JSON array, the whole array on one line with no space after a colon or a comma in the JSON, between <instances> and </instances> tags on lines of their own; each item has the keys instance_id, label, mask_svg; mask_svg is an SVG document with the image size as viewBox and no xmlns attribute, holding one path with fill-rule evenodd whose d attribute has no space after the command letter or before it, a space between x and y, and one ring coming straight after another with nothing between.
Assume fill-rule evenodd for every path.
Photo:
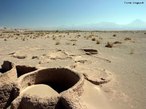
<instances>
[{"instance_id":1,"label":"clear blue sky above the horizon and distant mountains","mask_svg":"<svg viewBox=\"0 0 146 109\"><path fill-rule=\"evenodd\" d=\"M53 28L146 21L146 0L131 1L144 4L129 5L124 0L0 0L0 27Z\"/></svg>"}]
</instances>

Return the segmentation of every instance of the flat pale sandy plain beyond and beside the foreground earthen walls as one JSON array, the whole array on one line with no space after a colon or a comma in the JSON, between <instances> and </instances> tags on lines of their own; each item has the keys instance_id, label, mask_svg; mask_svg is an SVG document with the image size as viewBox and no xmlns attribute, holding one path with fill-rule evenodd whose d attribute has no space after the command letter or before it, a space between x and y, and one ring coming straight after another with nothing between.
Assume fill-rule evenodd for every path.
<instances>
[{"instance_id":1,"label":"flat pale sandy plain beyond and beside the foreground earthen walls","mask_svg":"<svg viewBox=\"0 0 146 109\"><path fill-rule=\"evenodd\" d=\"M85 48L95 49L97 54L90 55ZM0 64L4 60L39 67L69 67L97 81L110 78L100 85L85 81L81 99L89 109L146 108L146 31L0 31Z\"/></svg>"}]
</instances>

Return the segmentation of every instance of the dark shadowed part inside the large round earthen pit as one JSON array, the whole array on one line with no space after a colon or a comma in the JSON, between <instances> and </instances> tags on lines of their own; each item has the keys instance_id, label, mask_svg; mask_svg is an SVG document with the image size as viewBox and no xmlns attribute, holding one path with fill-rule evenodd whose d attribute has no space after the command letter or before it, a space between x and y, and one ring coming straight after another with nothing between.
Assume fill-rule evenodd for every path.
<instances>
[{"instance_id":1,"label":"dark shadowed part inside the large round earthen pit","mask_svg":"<svg viewBox=\"0 0 146 109\"><path fill-rule=\"evenodd\" d=\"M47 84L58 93L74 86L80 77L71 70L64 68L52 68L41 70L36 76L37 84Z\"/></svg>"}]
</instances>

